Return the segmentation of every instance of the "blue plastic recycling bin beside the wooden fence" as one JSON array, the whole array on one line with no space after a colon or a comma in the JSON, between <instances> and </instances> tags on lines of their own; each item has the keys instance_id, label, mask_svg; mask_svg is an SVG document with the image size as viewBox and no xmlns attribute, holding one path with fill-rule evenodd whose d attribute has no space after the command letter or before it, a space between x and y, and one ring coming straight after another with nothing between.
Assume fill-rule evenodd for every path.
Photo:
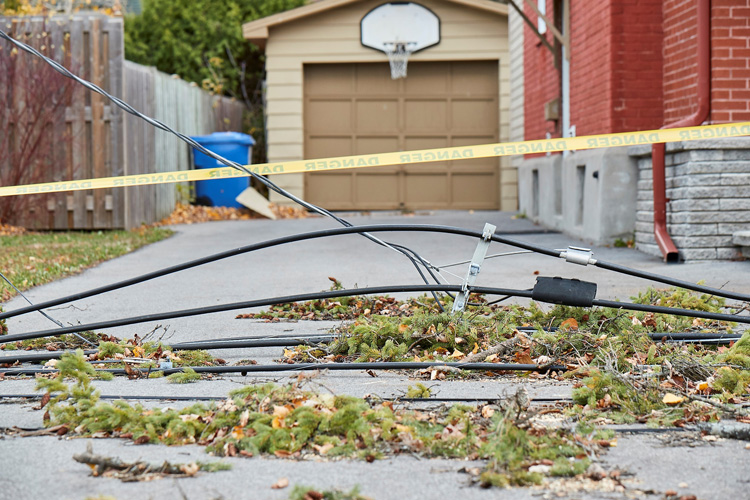
<instances>
[{"instance_id":1,"label":"blue plastic recycling bin beside the wooden fence","mask_svg":"<svg viewBox=\"0 0 750 500\"><path fill-rule=\"evenodd\" d=\"M232 160L242 165L248 165L252 161L255 140L247 134L239 132L214 132L210 135L194 136L192 139L204 148L220 154L227 160ZM195 168L226 167L223 163L214 160L195 148L193 148L193 163ZM249 177L196 181L195 199L199 205L239 208L242 205L237 203L235 198L247 189L249 185Z\"/></svg>"}]
</instances>

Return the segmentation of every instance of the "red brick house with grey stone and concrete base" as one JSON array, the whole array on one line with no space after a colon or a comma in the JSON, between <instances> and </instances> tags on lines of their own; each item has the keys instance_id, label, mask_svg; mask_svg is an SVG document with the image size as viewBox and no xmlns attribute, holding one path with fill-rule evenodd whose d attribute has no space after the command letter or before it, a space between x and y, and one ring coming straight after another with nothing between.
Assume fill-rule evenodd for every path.
<instances>
[{"instance_id":1,"label":"red brick house with grey stone and concrete base","mask_svg":"<svg viewBox=\"0 0 750 500\"><path fill-rule=\"evenodd\" d=\"M523 6L527 18L523 28L523 54L512 55L523 59L524 139L657 129L685 122L688 118L695 124L750 121L750 0L547 0L546 5L543 1L538 5L546 9L540 10L546 10L547 19L562 33L561 39L549 27L538 34L542 30L538 29L537 9L515 1L517 6ZM568 3L570 12L566 13L563 5ZM708 23L704 24L702 35L699 34L701 18ZM530 24L537 29L532 30ZM565 33L566 27L569 33ZM563 44L567 45L564 50ZM700 46L708 47L705 58L710 57L704 60L703 69L699 64ZM701 87L699 83L701 71L708 86ZM569 75L567 81L566 74ZM566 85L569 96L566 96ZM703 103L702 89L705 92ZM568 123L570 128L565 130ZM688 124L681 123L681 126ZM745 150L741 143L735 140L731 148ZM687 183L679 178L681 171L675 170L679 158L669 155L672 151L677 154L685 148L696 147L688 143L682 146L667 146L666 224L669 227L708 224L701 217L680 216L681 210L674 203L683 196L696 198L695 192L680 191ZM721 149L716 144L703 146L710 150ZM734 156L738 154L742 156L740 153ZM596 155L602 158L597 159ZM564 159L555 156L562 155L537 155L536 158L529 155L521 163L519 201L522 210L542 223L596 242L628 233L632 236L635 230L639 248L655 254L664 252L664 249L658 252L662 246L658 235L655 240L646 230L650 224L653 232L653 212L658 212L659 204L659 195L646 199L652 190L650 148L648 151L643 147L610 152L581 151L565 155ZM561 172L556 173L556 169ZM719 170L705 174L717 174ZM592 180L589 174L594 172L597 175ZM621 175L610 177L610 184L605 185L606 179L601 174L606 177L607 172ZM720 200L739 200L750 193L750 171L723 173L733 174L732 185L740 189L717 191L711 202L701 197L706 211L720 212L722 205L729 206ZM717 186L730 185L728 178L717 182ZM612 214L602 215L614 209L604 206L613 190L620 204L614 219L622 222L614 226ZM549 201L556 198L554 203ZM657 199L656 208L653 199ZM744 207L744 204L735 203L733 208L738 206ZM743 208L747 209L750 204ZM716 220L712 223L732 223L735 230L732 232L743 227L750 229L747 215L738 214L737 220L730 220L726 214L714 215ZM703 216L703 219L711 219L706 214ZM657 225L658 221L657 214ZM739 255L740 249L731 243L731 234L721 233L718 226L710 234L716 238L711 241L704 238L701 246L685 238L678 242L684 228L677 229L678 234L673 236L682 259ZM708 231L707 228L702 230ZM721 248L723 250L717 250Z\"/></svg>"}]
</instances>

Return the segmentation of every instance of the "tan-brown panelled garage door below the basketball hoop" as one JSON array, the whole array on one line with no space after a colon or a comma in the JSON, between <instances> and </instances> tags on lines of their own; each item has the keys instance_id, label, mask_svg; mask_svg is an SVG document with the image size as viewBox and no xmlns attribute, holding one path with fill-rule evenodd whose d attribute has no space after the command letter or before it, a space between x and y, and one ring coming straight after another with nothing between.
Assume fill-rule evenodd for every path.
<instances>
[{"instance_id":1,"label":"tan-brown panelled garage door below the basketball hoop","mask_svg":"<svg viewBox=\"0 0 750 500\"><path fill-rule=\"evenodd\" d=\"M305 66L305 157L498 142L498 64ZM496 158L309 173L305 197L331 210L498 209Z\"/></svg>"}]
</instances>

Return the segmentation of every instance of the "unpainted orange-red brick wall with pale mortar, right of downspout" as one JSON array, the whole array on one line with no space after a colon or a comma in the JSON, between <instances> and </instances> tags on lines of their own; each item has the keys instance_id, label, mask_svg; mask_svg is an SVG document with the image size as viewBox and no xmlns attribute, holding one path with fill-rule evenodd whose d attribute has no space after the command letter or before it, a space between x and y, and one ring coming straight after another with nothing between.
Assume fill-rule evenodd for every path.
<instances>
[{"instance_id":1,"label":"unpainted orange-red brick wall with pale mortar, right of downspout","mask_svg":"<svg viewBox=\"0 0 750 500\"><path fill-rule=\"evenodd\" d=\"M711 122L750 120L750 0L711 2Z\"/></svg>"}]
</instances>

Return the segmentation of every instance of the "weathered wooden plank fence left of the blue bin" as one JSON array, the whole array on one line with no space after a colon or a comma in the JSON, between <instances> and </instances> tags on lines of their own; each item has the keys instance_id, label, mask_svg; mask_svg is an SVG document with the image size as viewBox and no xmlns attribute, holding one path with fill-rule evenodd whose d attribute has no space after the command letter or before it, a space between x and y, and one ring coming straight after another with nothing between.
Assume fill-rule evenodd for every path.
<instances>
[{"instance_id":1,"label":"weathered wooden plank fence left of the blue bin","mask_svg":"<svg viewBox=\"0 0 750 500\"><path fill-rule=\"evenodd\" d=\"M241 129L240 103L125 61L120 18L95 14L0 17L0 25L82 78L186 135ZM0 43L0 58L8 58L10 52L9 44ZM20 70L4 80L0 75L0 110L23 109L29 99L49 98L43 91L37 90L37 95L23 92L29 71L38 74L44 63L25 53L14 54L9 60ZM33 178L33 182L48 182L191 168L190 148L185 143L120 110L99 94L72 84L64 98L65 106L50 113L42 124L44 133L36 132L36 136L54 141L45 161L21 162L16 161L18 155L8 154L20 147L25 130L22 123L8 119L12 140L5 153L0 151L4 182L12 176L3 174L19 172L14 169L31 172L33 175L25 178ZM7 115L8 111L0 119ZM187 196L187 189L164 184L32 195L24 203L16 200L12 217L4 222L34 229L132 228L167 216L175 201Z\"/></svg>"}]
</instances>

